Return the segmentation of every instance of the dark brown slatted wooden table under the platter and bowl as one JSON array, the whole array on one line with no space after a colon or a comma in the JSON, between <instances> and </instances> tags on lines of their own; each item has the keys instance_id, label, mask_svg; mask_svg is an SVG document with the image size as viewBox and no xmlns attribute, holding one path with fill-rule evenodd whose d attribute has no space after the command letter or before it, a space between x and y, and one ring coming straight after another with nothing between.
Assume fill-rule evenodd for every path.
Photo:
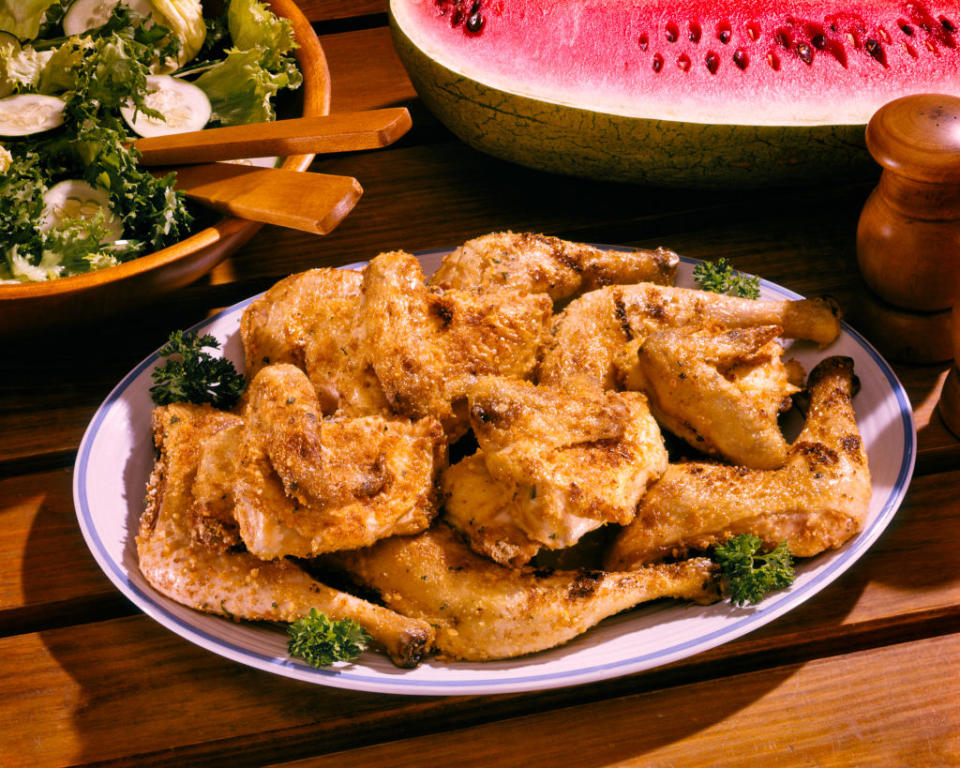
<instances>
[{"instance_id":1,"label":"dark brown slatted wooden table under the platter and bowl","mask_svg":"<svg viewBox=\"0 0 960 768\"><path fill-rule=\"evenodd\" d=\"M94 328L5 342L0 356L0 765L960 764L960 444L935 410L947 365L896 365L919 434L906 500L838 581L735 642L573 688L405 697L274 676L141 614L78 529L73 461L113 385L218 308L312 266L489 231L727 256L846 305L861 290L857 216L873 180L690 192L556 178L485 157L419 103L383 0L307 0L334 111L406 105L386 151L319 159L360 204L319 238L264 228L161 303Z\"/></svg>"}]
</instances>

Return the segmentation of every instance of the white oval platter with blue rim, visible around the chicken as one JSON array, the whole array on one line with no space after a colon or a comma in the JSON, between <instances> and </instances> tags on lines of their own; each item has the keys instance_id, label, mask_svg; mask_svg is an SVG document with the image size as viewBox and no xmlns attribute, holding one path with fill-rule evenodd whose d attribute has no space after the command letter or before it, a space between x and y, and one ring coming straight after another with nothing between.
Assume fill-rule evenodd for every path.
<instances>
[{"instance_id":1,"label":"white oval platter with blue rim, visible around the chicken","mask_svg":"<svg viewBox=\"0 0 960 768\"><path fill-rule=\"evenodd\" d=\"M603 247L616 248L616 246ZM431 261L437 261L445 252L430 251L419 254L419 257L426 262L426 267ZM698 263L691 259L682 259L682 262L687 274L692 270L693 265ZM349 266L359 268L363 264ZM766 280L761 280L761 288L765 298L802 298ZM196 324L191 330L207 331L212 326L229 326L227 331L233 337L233 354L236 355L236 327L239 324L240 313L255 298L257 297L239 302L215 317ZM98 475L97 473L105 471L101 469L101 465L112 467L110 461L124 459L123 455L104 458L103 446L109 444L111 450L119 450L122 453L125 447L124 440L130 441L126 448L129 449L128 453L131 456L146 450L149 452L152 463L149 426L143 434L138 432L142 431L143 423L149 425L149 413L144 415L140 411L144 407L149 411L149 403L147 402L146 406L143 405L143 395L149 386L145 383L149 380L149 371L159 359L156 352L130 371L113 389L97 410L84 434L74 469L74 501L77 518L91 553L107 577L144 613L207 650L267 672L353 690L425 695L528 691L618 677L691 656L734 640L767 624L834 581L872 546L889 524L907 491L916 459L916 432L912 408L893 370L873 346L846 324L843 325L842 338L844 343L858 354L861 366L866 364L876 369L875 373L878 373L879 377L872 383L880 389L883 402L891 414L885 427L899 432L900 439L895 441L897 443L895 446L891 447L889 440L884 442L885 454L893 451L893 458L889 462L887 471L890 480L889 490L876 508L873 508L872 504L867 525L858 536L840 550L813 558L815 565L799 566L797 583L793 588L767 598L759 606L747 609L733 609L723 603L716 606L676 604L668 608L658 607L648 612L649 626L644 624L637 628L632 626L639 621L637 617L646 616L646 609L639 607L604 622L603 625L608 627L605 630L606 639L598 639L597 633L603 630L594 628L567 646L504 662L433 663L432 665L428 663L416 670L399 670L393 668L385 657L368 651L357 663L315 669L290 659L285 655L285 639L281 631L274 632L263 627L253 628L252 625L229 622L220 617L202 614L180 606L154 592L140 576L135 562L130 562L129 556L124 555L124 552L129 553L135 536L137 521L142 511L142 489L145 487L146 477L140 478L143 484L139 486L141 490L138 495L133 491L124 493L120 485L122 480L116 481L116 488L111 486L104 490L104 479L107 483L112 480L106 474ZM221 337L221 342L225 341L227 339ZM819 357L825 357L834 353L833 350L828 350L817 354ZM131 406L132 401L137 401L139 405L135 403ZM140 419L140 430L134 427L127 429L127 419L131 414L135 414ZM145 422L144 418L146 418ZM118 432L117 424L123 425L124 429ZM115 447L118 443L119 449ZM874 448L877 447L874 446ZM874 458L873 456L870 458L872 467ZM128 464L132 461L131 458ZM117 496L120 498L116 498ZM125 516L125 520L120 521L117 516ZM126 523L125 528L124 523ZM124 536L125 541L118 540L119 537ZM803 574L807 571L810 573L804 576ZM724 605L726 608L717 607ZM707 616L711 611L709 620L705 620L707 626L697 627L696 619ZM664 616L671 619L679 617L685 622L692 621L692 627L688 628L686 624L681 624L676 630L679 633L676 638L665 635L660 645L646 651L642 650L643 639L646 637L644 633L649 634L654 627L661 626ZM275 637L260 640L253 637L253 633L267 633ZM602 652L605 650L605 645L613 642L611 638L616 638L619 642L624 636L633 638L634 634L631 633L636 633L636 650L632 645L625 650L618 644L615 648L610 646L613 649L609 654L610 658ZM571 648L579 650L568 658L568 649ZM581 659L584 653L592 653L592 655Z\"/></svg>"}]
</instances>

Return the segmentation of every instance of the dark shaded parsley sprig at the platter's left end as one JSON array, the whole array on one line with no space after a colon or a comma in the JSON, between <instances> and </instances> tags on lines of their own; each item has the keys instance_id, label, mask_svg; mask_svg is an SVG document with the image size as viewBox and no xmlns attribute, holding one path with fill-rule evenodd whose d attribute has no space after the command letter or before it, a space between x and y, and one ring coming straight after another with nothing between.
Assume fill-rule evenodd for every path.
<instances>
[{"instance_id":1,"label":"dark shaded parsley sprig at the platter's left end","mask_svg":"<svg viewBox=\"0 0 960 768\"><path fill-rule=\"evenodd\" d=\"M233 363L213 357L205 348L219 349L220 342L207 334L174 331L158 354L167 358L153 371L150 396L157 405L210 403L216 408L236 405L246 385Z\"/></svg>"}]
</instances>

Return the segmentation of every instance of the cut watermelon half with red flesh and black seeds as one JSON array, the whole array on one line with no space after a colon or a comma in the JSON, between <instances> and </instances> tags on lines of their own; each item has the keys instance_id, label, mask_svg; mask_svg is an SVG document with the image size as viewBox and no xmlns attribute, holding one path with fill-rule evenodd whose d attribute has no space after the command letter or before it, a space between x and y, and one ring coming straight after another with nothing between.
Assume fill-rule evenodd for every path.
<instances>
[{"instance_id":1,"label":"cut watermelon half with red flesh and black seeds","mask_svg":"<svg viewBox=\"0 0 960 768\"><path fill-rule=\"evenodd\" d=\"M390 0L426 105L468 144L564 174L759 187L877 171L864 126L960 96L960 3Z\"/></svg>"}]
</instances>

